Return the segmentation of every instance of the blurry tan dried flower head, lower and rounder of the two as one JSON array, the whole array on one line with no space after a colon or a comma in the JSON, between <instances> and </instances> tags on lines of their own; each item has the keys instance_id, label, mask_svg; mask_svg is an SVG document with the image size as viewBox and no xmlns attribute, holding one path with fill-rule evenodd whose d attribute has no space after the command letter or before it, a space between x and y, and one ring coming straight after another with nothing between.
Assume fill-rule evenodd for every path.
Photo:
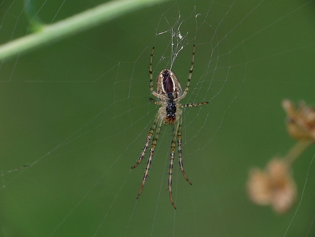
<instances>
[{"instance_id":1,"label":"blurry tan dried flower head, lower and rounder of the two","mask_svg":"<svg viewBox=\"0 0 315 237\"><path fill-rule=\"evenodd\" d=\"M271 205L279 214L288 211L296 199L296 185L285 160L273 159L265 170L249 172L247 193L251 201L260 205Z\"/></svg>"}]
</instances>

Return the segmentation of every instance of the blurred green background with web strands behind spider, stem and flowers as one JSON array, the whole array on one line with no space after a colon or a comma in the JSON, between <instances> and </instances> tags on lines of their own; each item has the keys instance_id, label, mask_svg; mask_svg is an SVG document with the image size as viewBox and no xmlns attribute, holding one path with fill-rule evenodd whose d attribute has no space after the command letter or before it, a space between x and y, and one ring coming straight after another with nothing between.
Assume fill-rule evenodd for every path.
<instances>
[{"instance_id":1,"label":"blurred green background with web strands behind spider, stem and flowers","mask_svg":"<svg viewBox=\"0 0 315 237\"><path fill-rule=\"evenodd\" d=\"M0 3L0 42L102 1ZM27 14L28 18L27 19ZM177 1L120 17L0 66L0 236L313 236L314 149L293 166L298 200L286 215L249 202L248 170L294 144L281 100L314 105L314 1ZM29 17L31 15L31 17ZM31 23L30 23L31 22ZM163 126L139 199L138 159L164 68L184 87L183 179Z\"/></svg>"}]
</instances>

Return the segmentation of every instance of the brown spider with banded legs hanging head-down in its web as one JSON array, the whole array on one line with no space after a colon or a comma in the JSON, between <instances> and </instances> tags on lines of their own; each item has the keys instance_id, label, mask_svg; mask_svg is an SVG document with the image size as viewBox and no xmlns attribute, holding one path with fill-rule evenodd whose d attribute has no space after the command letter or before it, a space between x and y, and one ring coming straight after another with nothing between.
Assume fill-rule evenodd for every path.
<instances>
[{"instance_id":1,"label":"brown spider with banded legs hanging head-down in its web","mask_svg":"<svg viewBox=\"0 0 315 237\"><path fill-rule=\"evenodd\" d=\"M161 108L159 111L157 111L154 122L149 130L149 133L146 138L146 142L143 148L143 151L140 154L140 157L136 164L131 167L136 168L141 161L143 160L143 157L145 156L146 150L149 146L151 137L153 136L153 141L151 143L151 147L149 149L149 159L147 162L147 166L143 175L141 187L139 190L139 193L137 195L137 199L139 198L145 181L148 177L148 172L151 166L152 162L152 157L153 157L153 152L154 152L154 147L157 142L157 138L159 137L160 130L162 123L166 125L173 125L173 135L172 135L172 140L171 140L171 161L170 161L170 167L169 167L169 179L168 179L168 189L170 193L170 200L171 203L176 210L176 206L173 201L172 197L172 173L173 173L173 164L174 164L174 153L175 153L175 146L176 146L176 136L177 136L177 143L178 143L178 157L179 157L179 167L180 170L185 178L185 180L188 182L188 184L192 185L191 181L188 180L185 171L183 169L183 162L182 162L182 155L181 155L181 126L182 126L182 110L181 108L185 107L193 107L197 105L203 105L203 104L208 104L209 102L202 102L202 103L192 103L192 104L180 104L178 103L181 99L183 99L189 88L189 84L192 78L193 74L193 68L194 68L194 59L195 59L195 45L193 47L193 58L192 58L192 65L191 69L188 74L188 80L186 83L186 87L184 92L182 92L181 86L179 81L177 80L176 75L169 69L164 69L160 72L159 76L156 78L156 90L155 92L153 90L153 79L152 79L152 58L153 58L153 52L154 52L154 47L152 48L151 52L151 57L150 57L150 67L149 67L149 74L150 74L150 91L151 94L153 94L156 98L157 101L155 101L153 98L150 98L150 101L154 103L155 105L161 105Z\"/></svg>"}]
</instances>

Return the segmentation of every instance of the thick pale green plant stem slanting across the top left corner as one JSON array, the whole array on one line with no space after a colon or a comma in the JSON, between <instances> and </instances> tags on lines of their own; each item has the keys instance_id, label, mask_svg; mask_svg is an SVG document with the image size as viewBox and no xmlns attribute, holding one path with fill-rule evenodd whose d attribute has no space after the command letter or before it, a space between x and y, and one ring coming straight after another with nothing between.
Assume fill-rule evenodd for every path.
<instances>
[{"instance_id":1,"label":"thick pale green plant stem slanting across the top left corner","mask_svg":"<svg viewBox=\"0 0 315 237\"><path fill-rule=\"evenodd\" d=\"M122 14L166 0L116 0L86 10L54 24L43 25L39 32L0 46L0 60L69 37Z\"/></svg>"}]
</instances>

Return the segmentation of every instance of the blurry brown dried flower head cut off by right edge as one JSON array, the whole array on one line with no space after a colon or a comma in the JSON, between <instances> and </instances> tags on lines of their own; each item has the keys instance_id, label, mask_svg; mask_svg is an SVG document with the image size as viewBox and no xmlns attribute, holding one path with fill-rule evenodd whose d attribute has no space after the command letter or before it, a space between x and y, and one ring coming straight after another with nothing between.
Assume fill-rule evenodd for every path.
<instances>
[{"instance_id":1,"label":"blurry brown dried flower head cut off by right edge","mask_svg":"<svg viewBox=\"0 0 315 237\"><path fill-rule=\"evenodd\" d=\"M283 100L282 107L288 116L289 134L296 139L315 140L315 109L304 102L300 102L296 109L290 100Z\"/></svg>"}]
</instances>

